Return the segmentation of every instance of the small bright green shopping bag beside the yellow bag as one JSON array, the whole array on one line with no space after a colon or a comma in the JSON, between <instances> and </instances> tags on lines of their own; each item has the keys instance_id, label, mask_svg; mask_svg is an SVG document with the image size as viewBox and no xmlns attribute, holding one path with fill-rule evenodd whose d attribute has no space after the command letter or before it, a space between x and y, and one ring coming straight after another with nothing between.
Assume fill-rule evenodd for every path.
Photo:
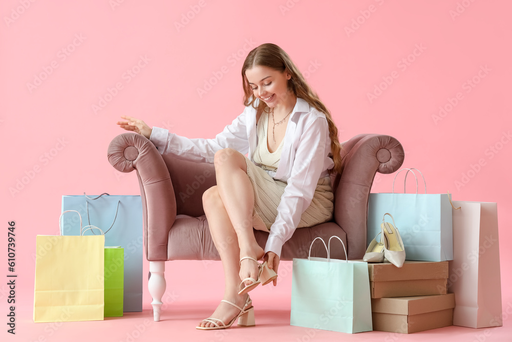
<instances>
[{"instance_id":1,"label":"small bright green shopping bag beside the yellow bag","mask_svg":"<svg viewBox=\"0 0 512 342\"><path fill-rule=\"evenodd\" d=\"M98 227L91 225L85 226L81 229L81 234L83 235L84 232L93 228ZM102 280L104 283L103 316L122 317L124 295L124 248L121 248L121 246L105 246L103 277L99 280Z\"/></svg>"}]
</instances>

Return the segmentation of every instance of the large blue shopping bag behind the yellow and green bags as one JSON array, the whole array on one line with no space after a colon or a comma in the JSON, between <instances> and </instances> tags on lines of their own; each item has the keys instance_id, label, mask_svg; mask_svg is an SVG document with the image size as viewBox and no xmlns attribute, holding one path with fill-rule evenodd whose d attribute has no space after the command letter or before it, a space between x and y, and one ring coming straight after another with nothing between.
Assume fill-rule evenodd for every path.
<instances>
[{"instance_id":1,"label":"large blue shopping bag behind the yellow and green bags","mask_svg":"<svg viewBox=\"0 0 512 342\"><path fill-rule=\"evenodd\" d=\"M142 311L142 202L138 196L62 196L62 210L77 210L86 224L105 232L105 246L124 248L123 311ZM85 219L85 218L84 218ZM76 235L75 223L68 219L64 235Z\"/></svg>"}]
</instances>

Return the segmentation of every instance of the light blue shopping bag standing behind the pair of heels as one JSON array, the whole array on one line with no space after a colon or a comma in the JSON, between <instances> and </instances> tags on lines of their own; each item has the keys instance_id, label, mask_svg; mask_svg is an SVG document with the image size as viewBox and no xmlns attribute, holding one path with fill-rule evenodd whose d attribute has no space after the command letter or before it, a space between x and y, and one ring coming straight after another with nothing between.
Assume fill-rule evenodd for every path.
<instances>
[{"instance_id":1,"label":"light blue shopping bag standing behind the pair of heels","mask_svg":"<svg viewBox=\"0 0 512 342\"><path fill-rule=\"evenodd\" d=\"M412 168L413 169L413 168ZM403 170L401 169L396 176ZM417 170L417 169L415 169ZM417 170L418 171L418 170ZM406 173L406 180L407 180ZM421 173L421 172L420 172ZM380 231L382 216L391 213L395 219L406 249L407 260L445 261L453 259L452 206L449 195L418 193L370 193L368 198L367 246Z\"/></svg>"}]
</instances>

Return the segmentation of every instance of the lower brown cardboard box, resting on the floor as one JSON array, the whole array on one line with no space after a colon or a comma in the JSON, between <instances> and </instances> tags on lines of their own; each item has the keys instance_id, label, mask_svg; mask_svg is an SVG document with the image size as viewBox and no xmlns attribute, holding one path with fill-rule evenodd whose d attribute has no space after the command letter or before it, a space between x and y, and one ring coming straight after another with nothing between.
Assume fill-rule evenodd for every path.
<instances>
[{"instance_id":1,"label":"lower brown cardboard box, resting on the floor","mask_svg":"<svg viewBox=\"0 0 512 342\"><path fill-rule=\"evenodd\" d=\"M453 325L453 293L372 299L373 330L409 334Z\"/></svg>"}]
</instances>

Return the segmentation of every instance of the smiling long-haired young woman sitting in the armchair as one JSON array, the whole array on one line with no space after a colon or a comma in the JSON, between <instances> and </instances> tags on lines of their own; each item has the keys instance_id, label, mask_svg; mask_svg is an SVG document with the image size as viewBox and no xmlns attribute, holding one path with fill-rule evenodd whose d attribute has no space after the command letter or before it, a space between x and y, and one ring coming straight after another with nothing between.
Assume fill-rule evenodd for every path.
<instances>
[{"instance_id":1,"label":"smiling long-haired young woman sitting in the armchair","mask_svg":"<svg viewBox=\"0 0 512 342\"><path fill-rule=\"evenodd\" d=\"M271 281L276 286L281 248L296 228L333 215L330 174L340 172L341 146L330 112L275 44L249 52L242 86L243 113L214 139L179 136L130 116L117 122L162 154L215 164L217 185L204 192L203 207L226 286L224 299L198 329L229 328L237 318L238 325L253 326L247 292ZM253 228L269 232L265 249Z\"/></svg>"}]
</instances>

